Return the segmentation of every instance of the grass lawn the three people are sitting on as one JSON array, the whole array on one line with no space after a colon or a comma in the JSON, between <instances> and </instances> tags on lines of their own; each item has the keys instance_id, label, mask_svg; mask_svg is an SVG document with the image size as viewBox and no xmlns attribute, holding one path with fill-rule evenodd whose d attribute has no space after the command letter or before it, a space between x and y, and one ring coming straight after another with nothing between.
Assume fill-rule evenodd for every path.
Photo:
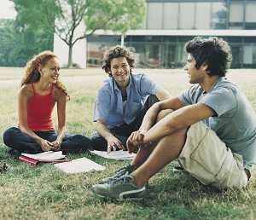
<instances>
[{"instance_id":1,"label":"grass lawn the three people are sitting on","mask_svg":"<svg viewBox=\"0 0 256 220\"><path fill-rule=\"evenodd\" d=\"M143 70L176 96L187 88L182 70ZM167 165L149 182L148 195L139 202L102 200L90 187L125 162L87 157L106 171L67 175L53 165L32 167L9 157L3 131L17 123L17 91L22 69L0 68L0 159L11 166L0 173L0 219L256 219L256 174L244 190L217 190ZM90 136L97 88L107 76L101 69L61 70L71 100L67 104L67 130ZM239 84L256 110L256 70L232 70L228 77Z\"/></svg>"}]
</instances>

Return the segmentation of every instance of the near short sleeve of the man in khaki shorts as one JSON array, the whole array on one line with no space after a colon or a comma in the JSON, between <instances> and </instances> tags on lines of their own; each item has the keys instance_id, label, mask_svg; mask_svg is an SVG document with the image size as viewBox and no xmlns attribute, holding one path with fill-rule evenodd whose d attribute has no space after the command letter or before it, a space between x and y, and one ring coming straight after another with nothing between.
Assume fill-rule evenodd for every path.
<instances>
[{"instance_id":1,"label":"near short sleeve of the man in khaki shorts","mask_svg":"<svg viewBox=\"0 0 256 220\"><path fill-rule=\"evenodd\" d=\"M236 96L232 90L225 88L210 92L199 102L204 103L207 107L211 107L218 116L228 112L231 113L237 107Z\"/></svg>"}]
</instances>

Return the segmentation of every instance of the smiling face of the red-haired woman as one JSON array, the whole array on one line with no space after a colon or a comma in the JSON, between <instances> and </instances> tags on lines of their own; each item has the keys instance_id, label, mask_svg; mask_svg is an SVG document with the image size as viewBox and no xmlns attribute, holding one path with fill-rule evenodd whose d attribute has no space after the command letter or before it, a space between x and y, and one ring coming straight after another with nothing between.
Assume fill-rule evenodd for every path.
<instances>
[{"instance_id":1,"label":"smiling face of the red-haired woman","mask_svg":"<svg viewBox=\"0 0 256 220\"><path fill-rule=\"evenodd\" d=\"M41 78L51 84L55 84L60 75L60 65L58 60L54 57L46 62L44 67L41 67Z\"/></svg>"}]
</instances>

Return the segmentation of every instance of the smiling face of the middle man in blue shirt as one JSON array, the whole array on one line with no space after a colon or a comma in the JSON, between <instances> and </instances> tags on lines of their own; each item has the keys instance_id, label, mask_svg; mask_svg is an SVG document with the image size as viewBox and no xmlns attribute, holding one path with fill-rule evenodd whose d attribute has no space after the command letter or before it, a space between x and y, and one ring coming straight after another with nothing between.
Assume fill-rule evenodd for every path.
<instances>
[{"instance_id":1,"label":"smiling face of the middle man in blue shirt","mask_svg":"<svg viewBox=\"0 0 256 220\"><path fill-rule=\"evenodd\" d=\"M119 86L126 86L129 83L130 65L125 57L113 58L110 61L110 69Z\"/></svg>"}]
</instances>

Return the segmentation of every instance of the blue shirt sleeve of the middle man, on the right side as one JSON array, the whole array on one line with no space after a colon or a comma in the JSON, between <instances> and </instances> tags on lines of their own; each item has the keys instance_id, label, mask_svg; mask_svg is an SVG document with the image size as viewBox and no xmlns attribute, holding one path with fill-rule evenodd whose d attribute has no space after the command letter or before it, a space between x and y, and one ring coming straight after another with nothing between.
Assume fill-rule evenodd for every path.
<instances>
[{"instance_id":1,"label":"blue shirt sleeve of the middle man, on the right side","mask_svg":"<svg viewBox=\"0 0 256 220\"><path fill-rule=\"evenodd\" d=\"M140 80L140 92L142 96L156 95L158 90L160 90L160 87L157 84L146 75L142 75Z\"/></svg>"}]
</instances>

